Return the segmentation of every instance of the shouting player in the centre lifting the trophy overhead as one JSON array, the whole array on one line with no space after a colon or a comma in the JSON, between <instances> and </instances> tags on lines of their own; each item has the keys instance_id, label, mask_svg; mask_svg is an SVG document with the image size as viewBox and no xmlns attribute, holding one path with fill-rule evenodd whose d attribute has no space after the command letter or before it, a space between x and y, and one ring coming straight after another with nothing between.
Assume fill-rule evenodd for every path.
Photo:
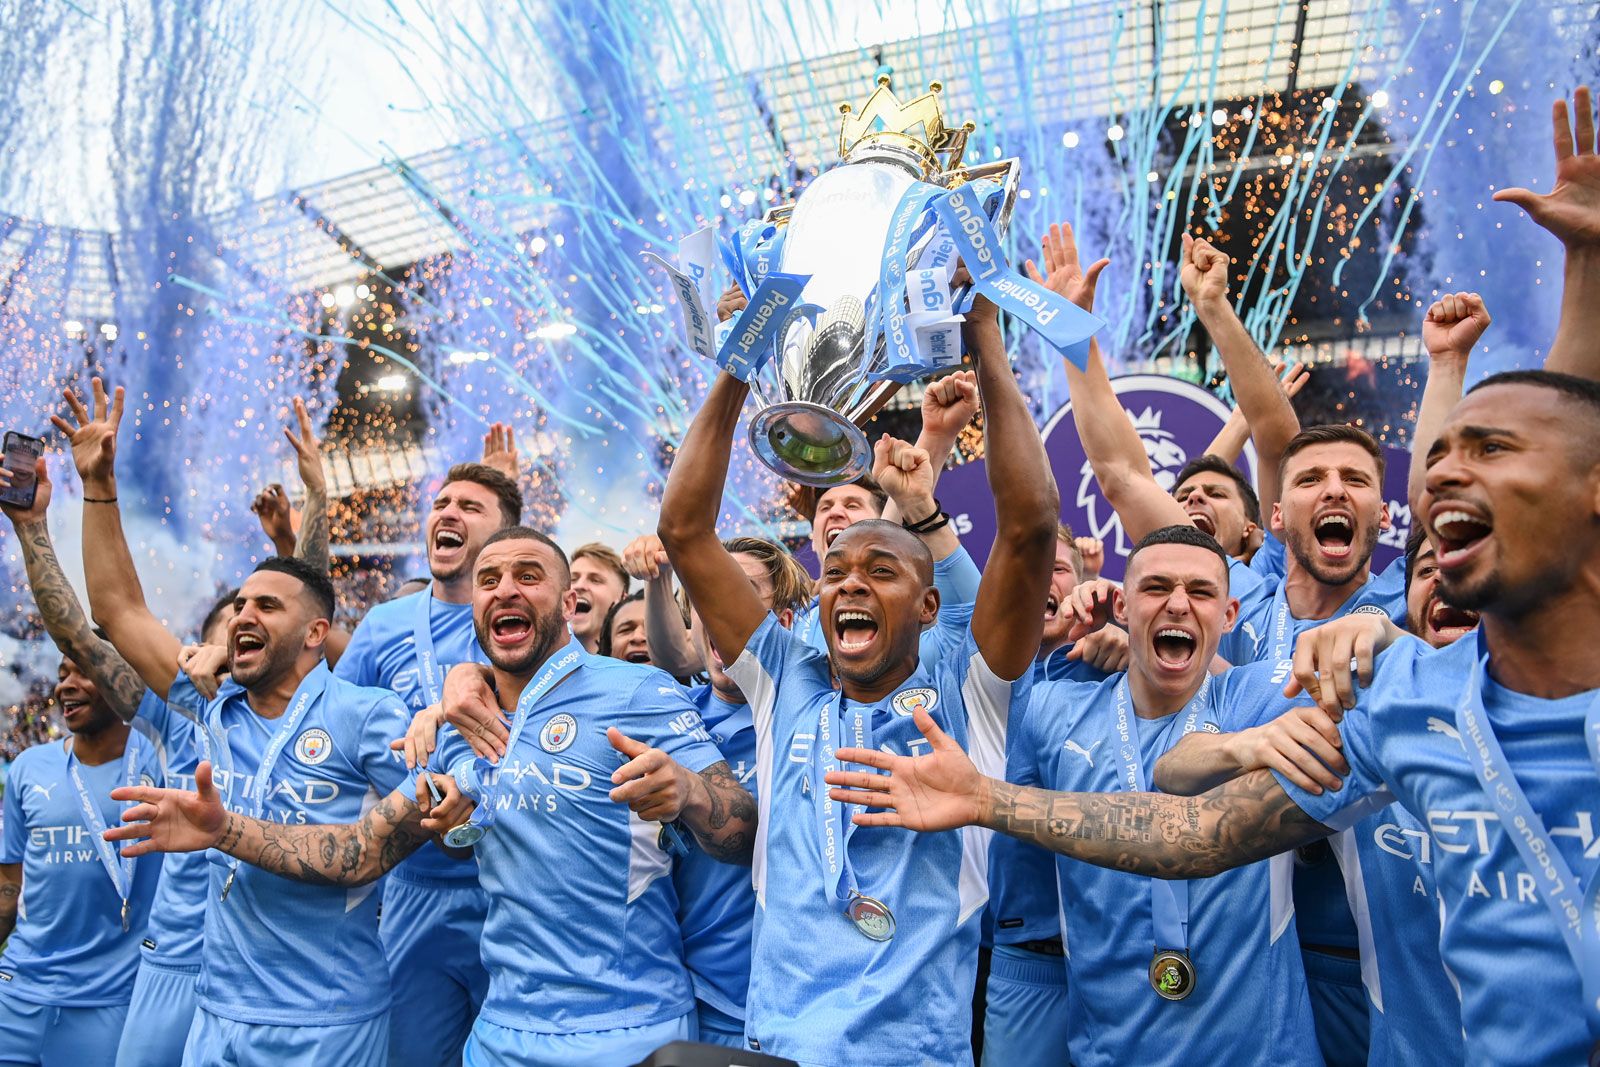
<instances>
[{"instance_id":1,"label":"shouting player in the centre lifting the trophy overhead","mask_svg":"<svg viewBox=\"0 0 1600 1067\"><path fill-rule=\"evenodd\" d=\"M840 531L822 555L827 656L779 625L717 537L749 392L726 373L683 440L661 507L658 534L674 571L755 718L762 819L747 1048L802 1064L971 1062L987 840L856 833L822 785L835 745L915 750L915 712L970 737L998 773L1005 723L1026 699L1059 501L994 306L979 298L963 330L987 414L997 512L994 553L970 608L941 606L918 536L869 520ZM904 485L926 469L926 453L910 445L882 440L878 450L880 482ZM936 517L906 518L926 528ZM942 654L920 651L930 625Z\"/></svg>"}]
</instances>

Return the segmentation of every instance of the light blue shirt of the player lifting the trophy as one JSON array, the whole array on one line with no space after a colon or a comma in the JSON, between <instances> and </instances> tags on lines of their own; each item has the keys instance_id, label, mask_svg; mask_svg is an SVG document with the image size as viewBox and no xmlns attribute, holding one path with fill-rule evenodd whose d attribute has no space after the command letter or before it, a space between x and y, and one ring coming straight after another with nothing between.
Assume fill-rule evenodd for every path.
<instances>
[{"instance_id":1,"label":"light blue shirt of the player lifting the trophy","mask_svg":"<svg viewBox=\"0 0 1600 1067\"><path fill-rule=\"evenodd\" d=\"M941 609L933 645L907 681L861 712L872 747L926 752L912 713L926 707L987 774L1003 773L1005 723L1030 678L1006 681L978 651L970 611ZM925 640L925 648L928 641ZM728 675L755 713L762 782L755 843L757 933L746 1033L806 1064L965 1062L971 1043L979 912L989 833L846 829L859 891L890 907L890 942L862 936L827 881L814 790L819 715L834 701L827 657L768 616Z\"/></svg>"}]
</instances>

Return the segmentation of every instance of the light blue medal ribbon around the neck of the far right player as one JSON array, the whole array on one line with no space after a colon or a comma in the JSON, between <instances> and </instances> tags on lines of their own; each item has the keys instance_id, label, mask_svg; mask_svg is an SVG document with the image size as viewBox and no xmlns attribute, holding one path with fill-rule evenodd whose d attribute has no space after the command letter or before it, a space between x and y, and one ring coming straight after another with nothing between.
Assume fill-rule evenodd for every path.
<instances>
[{"instance_id":1,"label":"light blue medal ribbon around the neck of the far right player","mask_svg":"<svg viewBox=\"0 0 1600 1067\"><path fill-rule=\"evenodd\" d=\"M1587 886L1579 886L1573 869L1555 848L1544 819L1528 803L1528 795L1517 782L1483 707L1483 678L1488 677L1490 657L1482 630L1475 640L1478 665L1467 680L1461 704L1456 705L1456 729L1461 733L1472 773L1493 801L1506 837L1517 846L1523 865L1538 883L1539 899L1555 918L1566 952L1578 965L1584 989L1584 1022L1589 1025L1589 1037L1600 1041L1600 870L1589 875ZM1589 760L1600 774L1600 694L1589 701L1584 741Z\"/></svg>"}]
</instances>

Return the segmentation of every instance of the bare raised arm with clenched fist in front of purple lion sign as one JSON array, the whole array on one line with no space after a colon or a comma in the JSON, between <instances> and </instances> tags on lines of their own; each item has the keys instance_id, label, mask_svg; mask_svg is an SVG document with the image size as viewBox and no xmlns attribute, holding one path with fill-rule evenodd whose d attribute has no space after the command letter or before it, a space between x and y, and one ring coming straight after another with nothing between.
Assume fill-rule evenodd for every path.
<instances>
[{"instance_id":1,"label":"bare raised arm with clenched fist in front of purple lion sign","mask_svg":"<svg viewBox=\"0 0 1600 1067\"><path fill-rule=\"evenodd\" d=\"M1256 442L1256 493L1262 514L1267 514L1278 501L1278 459L1290 438L1299 434L1299 418L1267 357L1234 312L1227 298L1227 256L1211 242L1184 234L1184 293L1222 357L1238 410Z\"/></svg>"}]
</instances>

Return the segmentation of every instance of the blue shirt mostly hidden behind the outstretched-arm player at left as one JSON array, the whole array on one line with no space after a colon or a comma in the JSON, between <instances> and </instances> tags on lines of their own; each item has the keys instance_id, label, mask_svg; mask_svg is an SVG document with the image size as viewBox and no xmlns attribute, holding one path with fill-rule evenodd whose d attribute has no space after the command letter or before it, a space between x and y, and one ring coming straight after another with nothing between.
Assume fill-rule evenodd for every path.
<instances>
[{"instance_id":1,"label":"blue shirt mostly hidden behind the outstretched-arm player at left","mask_svg":"<svg viewBox=\"0 0 1600 1067\"><path fill-rule=\"evenodd\" d=\"M144 734L157 753L160 782L166 789L194 789L200 761L198 721L206 699L189 678L179 675L162 701L146 691L133 728ZM211 864L205 853L168 853L162 859L162 880L139 947L144 958L163 966L200 966L205 944L205 897Z\"/></svg>"}]
</instances>

